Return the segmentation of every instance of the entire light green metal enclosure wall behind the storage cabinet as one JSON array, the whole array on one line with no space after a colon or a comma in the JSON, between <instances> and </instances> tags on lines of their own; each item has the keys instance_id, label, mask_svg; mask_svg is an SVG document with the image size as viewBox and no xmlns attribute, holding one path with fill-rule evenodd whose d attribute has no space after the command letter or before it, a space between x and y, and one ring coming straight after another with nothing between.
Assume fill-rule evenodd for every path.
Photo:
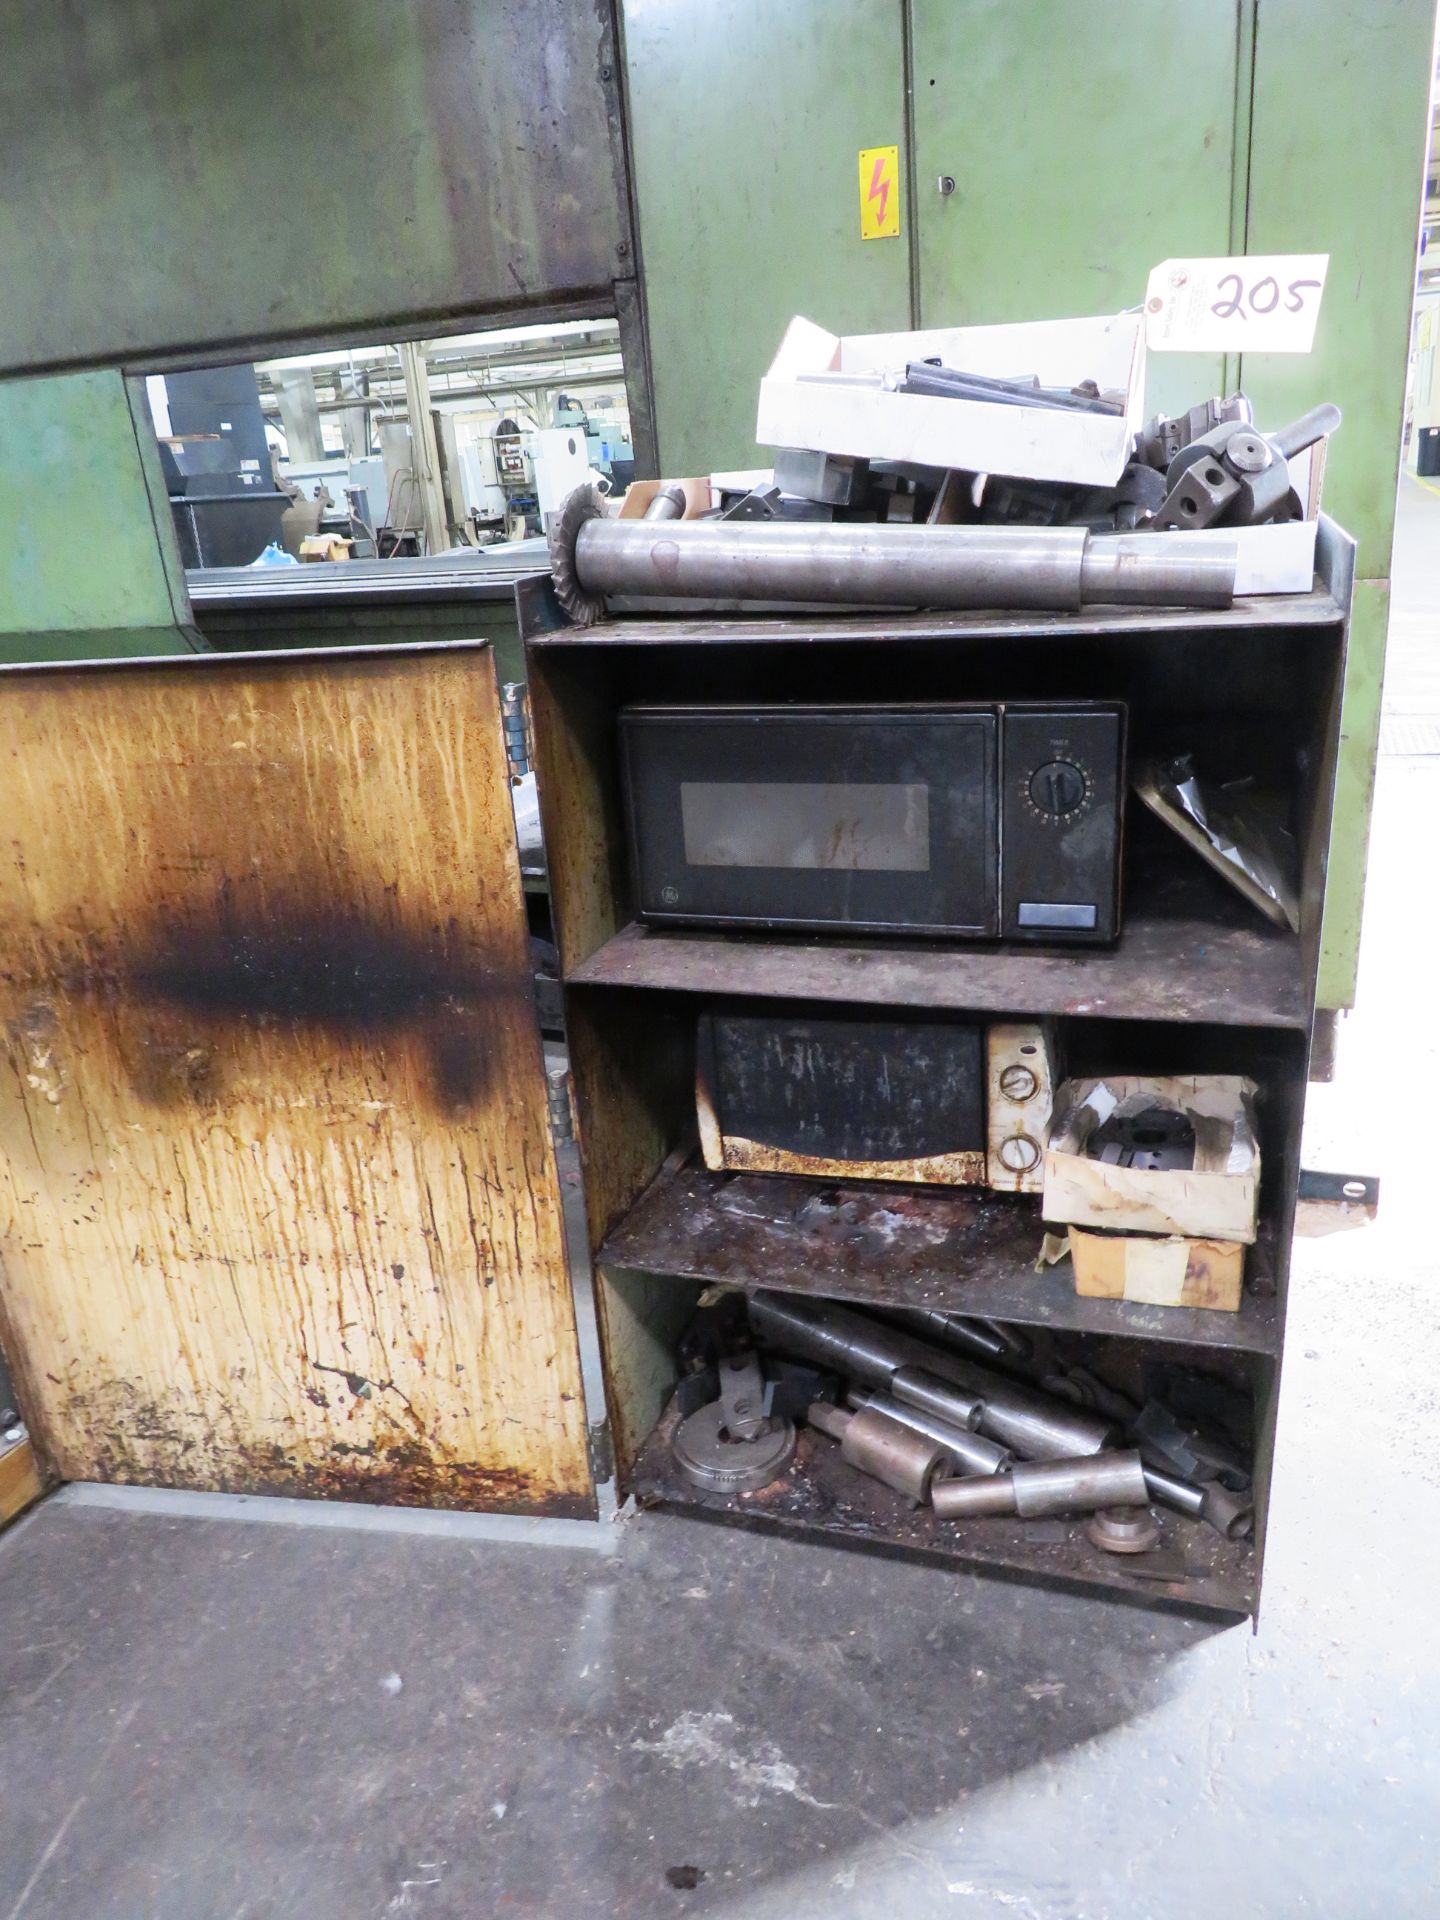
<instances>
[{"instance_id":1,"label":"entire light green metal enclosure wall behind the storage cabinet","mask_svg":"<svg viewBox=\"0 0 1440 1920\"><path fill-rule=\"evenodd\" d=\"M1354 1000L1434 0L622 0L660 467L747 467L791 313L837 332L1133 305L1171 253L1331 252L1313 355L1152 355L1152 405L1340 403L1359 540L1321 1004ZM906 83L910 90L906 90ZM910 148L904 238L856 150ZM952 175L956 192L937 192ZM914 315L908 321L906 315Z\"/></svg>"}]
</instances>

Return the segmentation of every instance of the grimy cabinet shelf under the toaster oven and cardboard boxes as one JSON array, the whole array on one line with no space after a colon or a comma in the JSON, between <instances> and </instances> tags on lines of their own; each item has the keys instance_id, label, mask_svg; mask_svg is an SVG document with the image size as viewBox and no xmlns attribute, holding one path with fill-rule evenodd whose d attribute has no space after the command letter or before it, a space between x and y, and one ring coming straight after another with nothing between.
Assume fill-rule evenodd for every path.
<instances>
[{"instance_id":1,"label":"grimy cabinet shelf under the toaster oven and cardboard boxes","mask_svg":"<svg viewBox=\"0 0 1440 1920\"><path fill-rule=\"evenodd\" d=\"M876 1308L937 1308L1073 1332L1279 1352L1273 1294L1246 1288L1238 1313L1087 1300L1068 1265L1035 1271L1041 1231L1039 1204L1025 1196L712 1173L689 1158L660 1167L605 1236L597 1261Z\"/></svg>"}]
</instances>

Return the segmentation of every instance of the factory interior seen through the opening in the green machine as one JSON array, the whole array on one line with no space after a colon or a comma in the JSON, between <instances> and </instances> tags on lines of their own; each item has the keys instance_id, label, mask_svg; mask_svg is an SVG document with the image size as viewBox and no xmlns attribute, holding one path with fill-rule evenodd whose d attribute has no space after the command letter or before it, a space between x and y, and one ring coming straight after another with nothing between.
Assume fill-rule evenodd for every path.
<instances>
[{"instance_id":1,"label":"factory interior seen through the opening in the green machine","mask_svg":"<svg viewBox=\"0 0 1440 1920\"><path fill-rule=\"evenodd\" d=\"M150 374L186 568L399 559L541 534L634 478L618 323L540 323Z\"/></svg>"}]
</instances>

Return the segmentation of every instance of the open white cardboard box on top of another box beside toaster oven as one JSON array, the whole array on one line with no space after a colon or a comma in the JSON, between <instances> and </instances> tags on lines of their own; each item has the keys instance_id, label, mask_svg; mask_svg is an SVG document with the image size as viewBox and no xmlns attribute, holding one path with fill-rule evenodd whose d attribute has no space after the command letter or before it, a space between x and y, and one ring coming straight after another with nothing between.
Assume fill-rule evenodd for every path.
<instances>
[{"instance_id":1,"label":"open white cardboard box on top of another box beside toaster oven","mask_svg":"<svg viewBox=\"0 0 1440 1920\"><path fill-rule=\"evenodd\" d=\"M1110 1075L1066 1081L1056 1094L1044 1150L1046 1221L1119 1233L1187 1235L1200 1240L1256 1238L1260 1144L1254 1081L1231 1073L1156 1079ZM1116 1167L1087 1160L1102 1121L1139 1104L1173 1106L1194 1127L1192 1167Z\"/></svg>"}]
</instances>

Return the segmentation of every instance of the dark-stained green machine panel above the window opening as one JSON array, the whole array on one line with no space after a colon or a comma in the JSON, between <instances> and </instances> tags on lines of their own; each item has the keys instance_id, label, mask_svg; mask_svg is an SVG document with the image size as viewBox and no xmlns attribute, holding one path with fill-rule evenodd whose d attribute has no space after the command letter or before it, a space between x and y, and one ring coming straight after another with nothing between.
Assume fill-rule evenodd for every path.
<instances>
[{"instance_id":1,"label":"dark-stained green machine panel above the window opening","mask_svg":"<svg viewBox=\"0 0 1440 1920\"><path fill-rule=\"evenodd\" d=\"M609 0L12 0L0 371L612 305Z\"/></svg>"}]
</instances>

